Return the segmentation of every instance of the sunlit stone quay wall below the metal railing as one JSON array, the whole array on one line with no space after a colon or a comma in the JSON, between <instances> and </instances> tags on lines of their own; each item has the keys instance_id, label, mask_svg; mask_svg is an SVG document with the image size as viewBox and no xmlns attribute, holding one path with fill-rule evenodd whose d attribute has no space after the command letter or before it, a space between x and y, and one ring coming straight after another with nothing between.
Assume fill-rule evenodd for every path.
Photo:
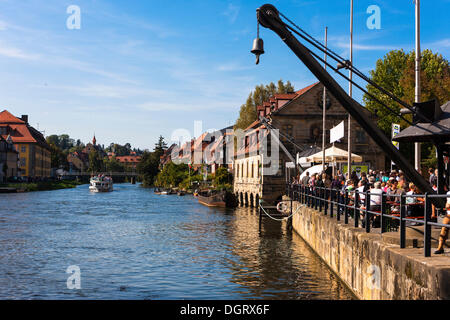
<instances>
[{"instance_id":1,"label":"sunlit stone quay wall below the metal railing","mask_svg":"<svg viewBox=\"0 0 450 320\"><path fill-rule=\"evenodd\" d=\"M450 259L400 249L294 202L293 229L360 299L450 299ZM298 210L298 211L297 211Z\"/></svg>"}]
</instances>

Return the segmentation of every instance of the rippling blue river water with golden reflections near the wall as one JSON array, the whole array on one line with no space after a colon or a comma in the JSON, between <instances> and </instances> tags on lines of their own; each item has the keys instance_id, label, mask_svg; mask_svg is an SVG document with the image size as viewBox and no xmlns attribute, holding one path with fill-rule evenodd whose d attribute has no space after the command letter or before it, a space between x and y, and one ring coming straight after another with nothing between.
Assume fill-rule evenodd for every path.
<instances>
[{"instance_id":1,"label":"rippling blue river water with golden reflections near the wall","mask_svg":"<svg viewBox=\"0 0 450 320\"><path fill-rule=\"evenodd\" d=\"M260 234L254 209L114 187L0 194L0 299L353 298L284 224Z\"/></svg>"}]
</instances>

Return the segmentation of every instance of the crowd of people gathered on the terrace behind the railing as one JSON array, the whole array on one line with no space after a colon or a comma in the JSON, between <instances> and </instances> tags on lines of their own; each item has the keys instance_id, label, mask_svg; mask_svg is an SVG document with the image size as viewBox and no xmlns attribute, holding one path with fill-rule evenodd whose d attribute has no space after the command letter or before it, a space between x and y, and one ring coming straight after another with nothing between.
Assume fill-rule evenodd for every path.
<instances>
[{"instance_id":1,"label":"crowd of people gathered on the terrace behind the railing","mask_svg":"<svg viewBox=\"0 0 450 320\"><path fill-rule=\"evenodd\" d=\"M436 192L438 191L438 170L430 168L428 170L428 181ZM372 212L381 211L381 201L382 194L386 194L386 203L389 206L390 213L392 215L399 215L400 213L400 201L401 196L406 195L405 205L406 205L406 216L410 218L421 218L424 216L424 198L421 197L423 194L414 183L407 180L404 173L401 170L388 171L376 171L369 170L368 172L361 172L357 174L352 172L350 177L348 174L343 174L340 170L337 174L331 176L325 172L316 173L309 175L307 172L300 179L300 175L293 178L293 185L307 186L311 190L318 188L332 189L340 191L343 194L346 190L348 191L349 201L354 201L355 191L358 191L359 206L362 210L366 209L365 196L367 193L370 194L370 203L368 210ZM444 190L447 193L446 207L442 210L436 209L434 205L432 206L431 218L437 221L440 213L444 215L442 223L450 224L450 191L445 185ZM364 225L363 211L361 211L362 223ZM373 226L377 227L379 224L379 219L377 217L372 217ZM445 241L448 238L449 228L442 228L439 246L435 251L435 254L444 253Z\"/></svg>"}]
</instances>

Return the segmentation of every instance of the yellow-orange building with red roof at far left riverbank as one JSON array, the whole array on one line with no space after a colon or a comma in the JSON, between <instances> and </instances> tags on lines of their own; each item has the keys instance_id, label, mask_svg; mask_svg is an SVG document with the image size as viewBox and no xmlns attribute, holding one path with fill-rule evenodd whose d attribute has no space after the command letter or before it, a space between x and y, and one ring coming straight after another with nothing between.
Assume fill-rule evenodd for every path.
<instances>
[{"instance_id":1,"label":"yellow-orange building with red roof at far left riverbank","mask_svg":"<svg viewBox=\"0 0 450 320\"><path fill-rule=\"evenodd\" d=\"M19 152L18 173L22 177L51 176L51 151L43 134L28 123L28 116L17 118L7 110L0 112L0 135L12 139Z\"/></svg>"}]
</instances>

